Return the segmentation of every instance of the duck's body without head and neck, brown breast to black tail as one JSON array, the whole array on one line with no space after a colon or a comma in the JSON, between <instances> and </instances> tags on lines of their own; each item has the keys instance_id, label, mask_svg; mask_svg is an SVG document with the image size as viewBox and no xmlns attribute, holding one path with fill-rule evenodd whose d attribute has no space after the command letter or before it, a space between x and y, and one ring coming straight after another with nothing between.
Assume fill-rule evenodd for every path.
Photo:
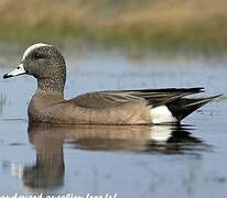
<instances>
[{"instance_id":1,"label":"duck's body without head and neck, brown breast to black tail","mask_svg":"<svg viewBox=\"0 0 227 198\"><path fill-rule=\"evenodd\" d=\"M71 100L35 94L30 102L31 120L52 123L150 124L179 122L215 97L187 99L202 88L99 91Z\"/></svg>"}]
</instances>

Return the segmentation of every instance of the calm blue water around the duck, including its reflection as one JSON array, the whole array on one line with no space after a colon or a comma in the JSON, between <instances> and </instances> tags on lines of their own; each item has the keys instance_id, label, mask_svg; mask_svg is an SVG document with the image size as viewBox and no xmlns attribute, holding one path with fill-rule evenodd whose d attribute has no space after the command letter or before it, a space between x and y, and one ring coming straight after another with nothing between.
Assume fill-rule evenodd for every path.
<instances>
[{"instance_id":1,"label":"calm blue water around the duck, including its reflection","mask_svg":"<svg viewBox=\"0 0 227 198\"><path fill-rule=\"evenodd\" d=\"M1 76L17 58L1 58ZM204 86L206 96L227 91L225 58L131 58L104 51L67 51L66 58L67 98L104 89ZM26 109L35 87L28 76L0 81L0 195L227 194L226 97L182 125L29 124Z\"/></svg>"}]
</instances>

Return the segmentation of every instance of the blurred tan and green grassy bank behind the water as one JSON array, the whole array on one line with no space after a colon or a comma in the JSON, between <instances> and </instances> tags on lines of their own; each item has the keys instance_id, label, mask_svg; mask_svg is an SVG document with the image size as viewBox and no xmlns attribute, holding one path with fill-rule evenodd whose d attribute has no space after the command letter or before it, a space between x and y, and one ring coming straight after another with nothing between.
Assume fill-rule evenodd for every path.
<instances>
[{"instance_id":1,"label":"blurred tan and green grassy bank behind the water","mask_svg":"<svg viewBox=\"0 0 227 198\"><path fill-rule=\"evenodd\" d=\"M227 48L226 0L1 0L0 41Z\"/></svg>"}]
</instances>

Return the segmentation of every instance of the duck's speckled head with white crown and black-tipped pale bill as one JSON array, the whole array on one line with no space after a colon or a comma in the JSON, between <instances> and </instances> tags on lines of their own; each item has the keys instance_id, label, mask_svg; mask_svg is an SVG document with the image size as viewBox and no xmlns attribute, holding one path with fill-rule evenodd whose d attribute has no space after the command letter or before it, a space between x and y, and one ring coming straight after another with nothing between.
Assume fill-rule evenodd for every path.
<instances>
[{"instance_id":1,"label":"duck's speckled head with white crown and black-tipped pale bill","mask_svg":"<svg viewBox=\"0 0 227 198\"><path fill-rule=\"evenodd\" d=\"M6 74L3 78L28 74L37 79L39 88L53 86L63 88L66 78L66 65L61 52L48 44L37 43L31 45L23 54L19 66ZM44 82L44 85L43 85Z\"/></svg>"}]
</instances>

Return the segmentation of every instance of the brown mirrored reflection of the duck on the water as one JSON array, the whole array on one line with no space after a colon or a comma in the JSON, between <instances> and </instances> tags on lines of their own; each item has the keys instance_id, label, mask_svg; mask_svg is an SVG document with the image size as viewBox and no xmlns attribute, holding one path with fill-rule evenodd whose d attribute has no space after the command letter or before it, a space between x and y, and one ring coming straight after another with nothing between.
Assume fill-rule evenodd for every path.
<instances>
[{"instance_id":1,"label":"brown mirrored reflection of the duck on the water","mask_svg":"<svg viewBox=\"0 0 227 198\"><path fill-rule=\"evenodd\" d=\"M195 154L207 150L183 125L66 125L29 123L29 139L36 152L33 166L18 168L22 183L32 189L64 185L63 144L90 151Z\"/></svg>"}]
</instances>

